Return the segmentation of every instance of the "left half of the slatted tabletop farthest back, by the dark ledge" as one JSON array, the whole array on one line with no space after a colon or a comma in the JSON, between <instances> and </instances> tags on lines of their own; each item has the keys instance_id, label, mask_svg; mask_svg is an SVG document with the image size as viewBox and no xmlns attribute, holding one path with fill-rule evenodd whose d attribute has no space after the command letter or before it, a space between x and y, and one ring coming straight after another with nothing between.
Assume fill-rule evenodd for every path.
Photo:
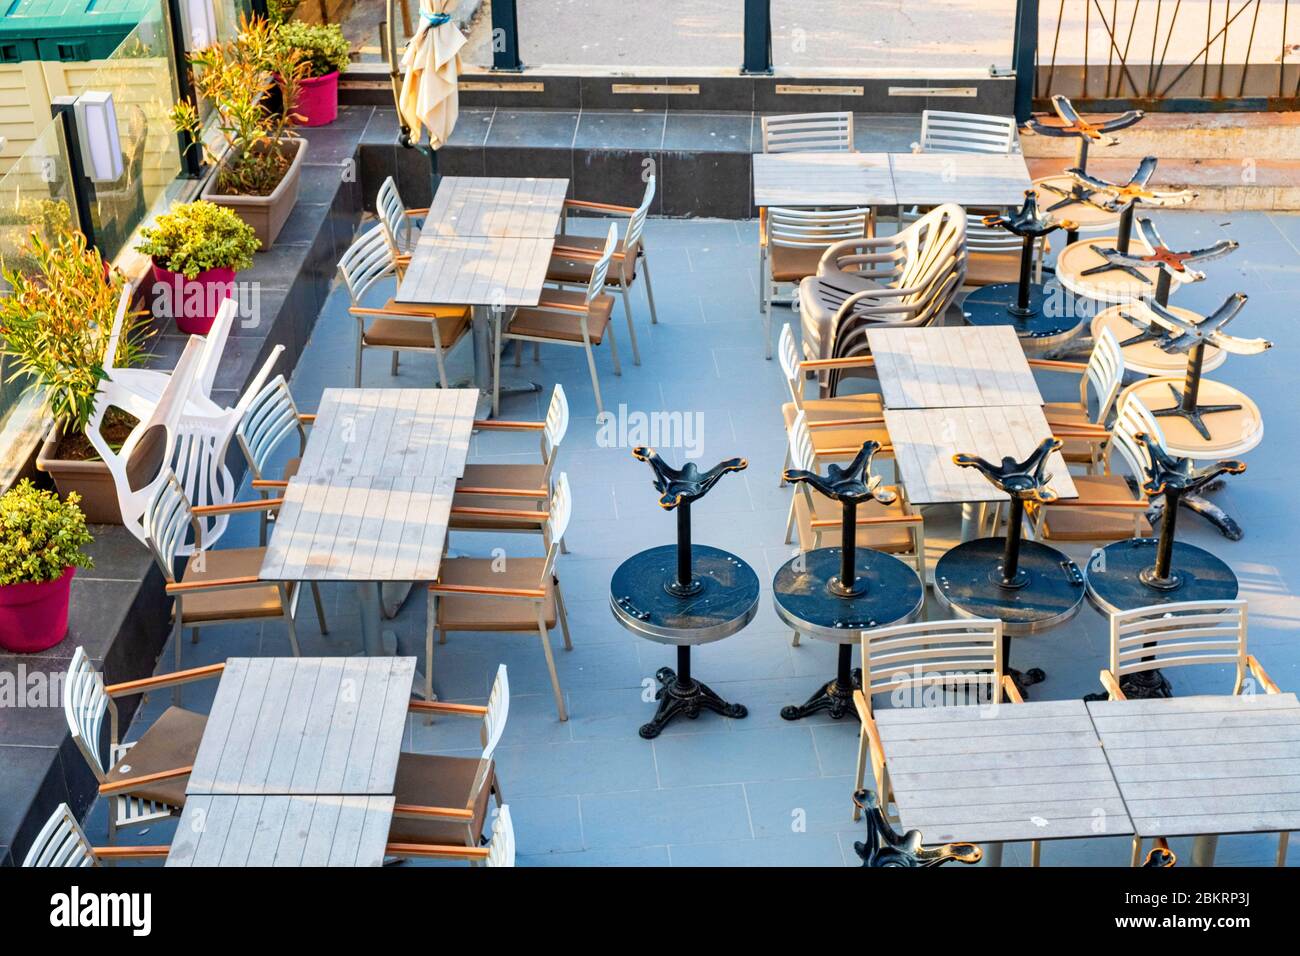
<instances>
[{"instance_id":1,"label":"left half of the slatted tabletop farthest back, by the dark ledge","mask_svg":"<svg viewBox=\"0 0 1300 956\"><path fill-rule=\"evenodd\" d=\"M754 153L754 206L897 204L888 153Z\"/></svg>"}]
</instances>

